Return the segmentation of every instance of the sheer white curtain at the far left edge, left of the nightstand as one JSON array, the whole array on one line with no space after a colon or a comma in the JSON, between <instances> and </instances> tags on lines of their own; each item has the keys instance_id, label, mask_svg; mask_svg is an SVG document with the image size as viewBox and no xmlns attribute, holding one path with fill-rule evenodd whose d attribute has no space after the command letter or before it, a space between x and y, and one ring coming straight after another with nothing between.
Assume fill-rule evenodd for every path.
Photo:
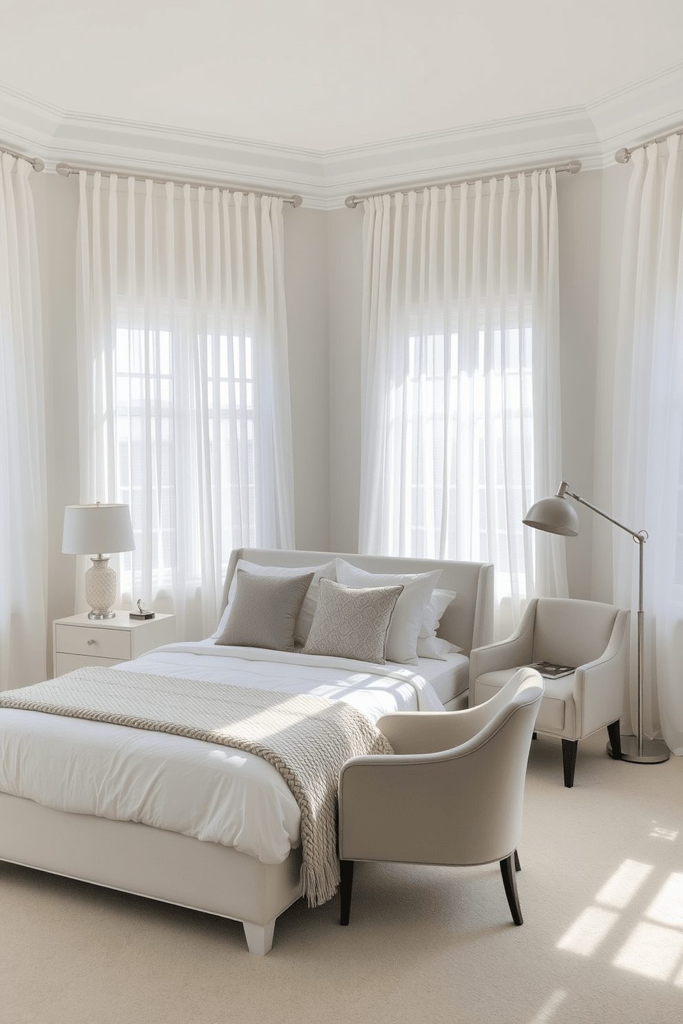
<instances>
[{"instance_id":1,"label":"sheer white curtain at the far left edge, left of the nightstand","mask_svg":"<svg viewBox=\"0 0 683 1024\"><path fill-rule=\"evenodd\" d=\"M0 689L46 675L43 349L30 171L0 153Z\"/></svg>"}]
</instances>

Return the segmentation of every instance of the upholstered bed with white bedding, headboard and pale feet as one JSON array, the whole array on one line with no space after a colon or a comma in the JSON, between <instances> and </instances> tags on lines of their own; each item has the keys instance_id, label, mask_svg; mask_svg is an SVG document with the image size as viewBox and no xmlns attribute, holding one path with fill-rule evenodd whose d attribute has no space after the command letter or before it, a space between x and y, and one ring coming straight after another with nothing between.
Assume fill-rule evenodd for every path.
<instances>
[{"instance_id":1,"label":"upholstered bed with white bedding, headboard and pale feet","mask_svg":"<svg viewBox=\"0 0 683 1024\"><path fill-rule=\"evenodd\" d=\"M186 679L195 679L200 685L202 680L215 678L216 673L226 673L225 678L220 680L224 683L227 678L233 678L237 669L242 673L238 677L240 685L257 688L261 685L263 673L272 675L274 672L279 691L297 693L302 692L303 677L309 672L317 673L310 684L312 692L333 697L341 695L343 700L353 705L371 721L396 710L466 707L468 655L473 647L489 642L493 634L492 565L330 552L239 549L232 552L226 571L221 624L216 633L220 635L227 614L234 606L228 603L228 599L233 600L234 597L239 563L243 567L248 566L250 573L259 570L263 573L268 568L287 571L323 567L331 563L339 566L338 560L346 567L351 580L354 579L353 573L358 571L375 577L438 570L438 588L450 593L451 599L438 620L436 636L446 646L452 645L459 650L445 654L441 652L439 658L420 656L415 665L387 662L382 669L373 669L362 662L326 658L325 655L311 657L298 650L283 655L280 660L280 655L256 648L237 652L227 648L220 650L215 643L218 636L214 635L198 644L179 643L158 648L135 662L116 668L125 673L126 678L131 678L130 673L141 673L141 676L135 677L139 679L178 677L183 685ZM319 568L319 571L323 569ZM265 574L268 574L267 571ZM336 579L335 574L330 579ZM369 583L361 585L370 586ZM306 663L307 656L312 668ZM272 688L272 683L264 685ZM17 723L26 721L27 716L33 723L30 734L19 735ZM36 723L40 723L40 727ZM78 746L81 737L85 736L85 729L88 730L88 737L96 734L98 752L102 743L104 746L112 744L105 755L109 762L102 762L103 755L95 755L93 746L87 743L82 749ZM167 796L172 793L174 800L177 796L170 817L158 820L153 808L146 819L137 812L135 816L138 819L131 819L130 807L125 802L131 797L134 784L127 776L122 778L118 788L112 783L116 774L112 766L121 763L117 743L121 742L120 737L124 734L128 737L128 746L131 743L147 744L144 745L142 760L152 763L151 759L157 758L155 771L160 778L166 773L162 788L165 786ZM150 740L151 735L153 740ZM251 952L264 954L270 949L278 915L301 897L302 863L296 805L292 805L286 783L270 764L227 748L222 749L219 757L212 744L185 736L147 735L141 729L127 729L102 721L83 722L12 708L0 709L0 739L5 762L4 774L0 772L0 859L230 918L243 923ZM32 794L31 797L17 790L13 782L10 784L6 763L17 761L20 752L25 764L32 764L34 760L37 763L39 751L46 748L51 751L62 748L65 752L71 752L65 753L65 758L69 756L87 761L93 775L100 771L102 784L99 785L99 794L105 793L110 804L98 806L96 813L91 813L78 803L66 805L63 795L60 795L59 801L46 796L41 802L41 786L47 783L38 772L32 783L36 788L27 791ZM243 762L253 765L259 793L265 788L265 783L261 785L263 778L268 779L272 791L268 797L270 810L260 807L258 800L262 798L255 799L256 791L253 788L245 790L239 797L231 796L238 793L236 783L225 782L222 775L202 776L202 780L200 773L205 768L195 764L193 759L198 755L188 753L190 748L193 752L201 748L205 761L210 756L214 771L218 770L216 765L219 762L230 760L240 765ZM177 760L176 754L171 756L172 749L180 752ZM78 753L74 753L76 751ZM273 775L276 776L274 781ZM206 799L200 796L202 785L208 787ZM189 808L187 802L184 805L182 802L182 791L188 786L191 786L193 794ZM17 795L19 792L22 795ZM222 796L218 799L217 794L224 794L224 799ZM230 811L230 801L237 801L238 814ZM170 805L172 802L167 800L166 803ZM214 809L212 813L206 810L210 804ZM218 820L218 805L227 824L222 818ZM269 823L268 815L272 814L272 807L276 828ZM165 806L165 813L167 810ZM205 815L201 821L198 818L200 811ZM191 828L187 827L183 814L193 817ZM177 821L173 815L179 816ZM249 833L250 828L254 835ZM268 843L270 846L267 849L259 847L259 843L265 842L261 833L269 836L266 847ZM275 833L276 838L272 841L269 834Z\"/></svg>"}]
</instances>

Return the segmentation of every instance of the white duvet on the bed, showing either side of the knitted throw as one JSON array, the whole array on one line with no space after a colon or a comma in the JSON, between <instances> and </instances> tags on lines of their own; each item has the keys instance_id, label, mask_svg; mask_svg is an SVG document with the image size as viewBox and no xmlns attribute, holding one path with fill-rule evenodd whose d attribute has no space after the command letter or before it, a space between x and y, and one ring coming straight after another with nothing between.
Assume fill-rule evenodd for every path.
<instances>
[{"instance_id":1,"label":"white duvet on the bed, showing either side of the knitted throw","mask_svg":"<svg viewBox=\"0 0 683 1024\"><path fill-rule=\"evenodd\" d=\"M394 711L443 710L420 667L216 647L204 640L159 647L118 668L313 693L347 700L373 721ZM0 791L233 846L266 864L285 860L299 843L299 808L266 761L104 722L0 709Z\"/></svg>"}]
</instances>

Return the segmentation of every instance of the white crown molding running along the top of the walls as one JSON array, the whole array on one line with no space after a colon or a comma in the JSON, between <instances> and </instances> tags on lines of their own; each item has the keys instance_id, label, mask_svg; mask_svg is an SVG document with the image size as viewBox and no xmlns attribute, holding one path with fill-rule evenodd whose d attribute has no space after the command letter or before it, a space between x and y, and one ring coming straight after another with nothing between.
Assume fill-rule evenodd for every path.
<instances>
[{"instance_id":1,"label":"white crown molding running along the top of the walls","mask_svg":"<svg viewBox=\"0 0 683 1024\"><path fill-rule=\"evenodd\" d=\"M57 163L183 177L259 191L298 193L335 209L348 195L394 190L449 177L581 160L613 163L622 145L683 123L683 62L587 106L473 124L374 145L313 151L163 125L61 111L0 86L0 140L46 170Z\"/></svg>"}]
</instances>

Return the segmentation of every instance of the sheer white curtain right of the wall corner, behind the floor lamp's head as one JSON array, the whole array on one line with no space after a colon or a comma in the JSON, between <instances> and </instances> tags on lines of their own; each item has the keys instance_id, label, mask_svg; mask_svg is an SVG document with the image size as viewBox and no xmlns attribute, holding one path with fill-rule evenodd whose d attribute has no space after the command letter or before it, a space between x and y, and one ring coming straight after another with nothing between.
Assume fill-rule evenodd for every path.
<instances>
[{"instance_id":1,"label":"sheer white curtain right of the wall corner, behind the floor lamp's head","mask_svg":"<svg viewBox=\"0 0 683 1024\"><path fill-rule=\"evenodd\" d=\"M554 171L365 204L361 551L492 561L498 629L566 593ZM551 489L552 488L552 489Z\"/></svg>"}]
</instances>

